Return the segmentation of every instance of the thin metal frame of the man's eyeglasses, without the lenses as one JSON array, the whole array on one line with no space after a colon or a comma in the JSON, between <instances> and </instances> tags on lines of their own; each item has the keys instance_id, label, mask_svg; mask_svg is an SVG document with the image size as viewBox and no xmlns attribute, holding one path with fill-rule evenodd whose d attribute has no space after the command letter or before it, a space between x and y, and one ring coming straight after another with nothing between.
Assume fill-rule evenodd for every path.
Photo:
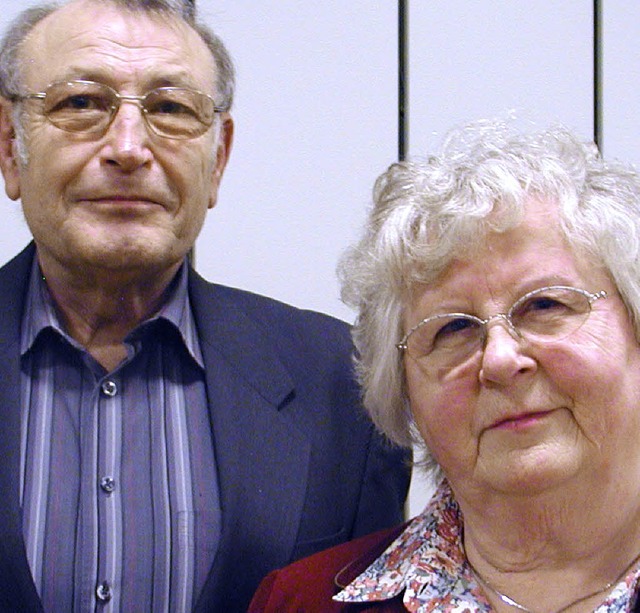
<instances>
[{"instance_id":1,"label":"thin metal frame of the man's eyeglasses, without the lenses","mask_svg":"<svg viewBox=\"0 0 640 613\"><path fill-rule=\"evenodd\" d=\"M213 99L213 96L210 96L209 94L199 90L199 89L193 89L190 87L177 87L177 86L163 86L163 87L154 87L153 89L150 89L148 92L146 92L145 94L142 95L134 95L134 94L121 94L120 92L116 91L113 87L111 87L110 85L107 85L106 83L101 83L99 81L90 81L87 79L72 79L69 81L54 81L53 83L50 83L49 85L47 85L47 87L45 88L44 91L41 92L35 92L35 93L29 93L29 94L13 94L10 97L10 100L12 102L16 102L16 101L22 101L22 100L46 100L47 97L47 93L48 91L52 88L55 87L56 85L65 85L65 84L73 84L73 83L79 83L82 85L99 85L100 87L104 88L105 90L111 92L113 94L113 100L114 103L111 104L109 106L110 109L110 115L109 115L109 121L107 121L107 123L104 125L103 128L101 128L100 130L93 130L93 129L88 129L88 130L67 130L65 128L62 128L61 126L55 124L49 114L47 113L43 113L43 116L45 117L45 119L54 127L58 128L59 130L62 130L64 132L68 132L70 134L100 134L101 136L103 136L104 134L107 133L107 131L109 130L111 124L113 123L114 119L116 118L116 115L118 114L118 111L120 110L120 107L122 106L123 102L131 102L134 104L137 104L140 107L141 113L142 113L142 118L144 119L144 123L145 125L149 128L149 130L151 130L151 132L153 132L154 134L156 134L157 136L160 136L162 138L169 138L171 140L190 140L192 138L198 138L199 136L202 136L212 125L215 119L215 115L216 113L226 113L229 108L228 107L223 107L223 106L217 106L215 103L215 100ZM147 109L144 106L144 101L154 92L157 91L163 91L163 90L182 90L182 91L190 91L190 92L194 92L198 95L204 96L205 98L207 98L208 100L210 100L213 103L213 115L212 115L212 120L211 123L207 124L205 122L202 122L200 120L199 123L204 126L204 129L202 130L202 132L199 132L197 134L194 134L193 136L169 136L167 134L163 134L161 132L158 132L157 128L154 127L154 125L151 123L151 121L149 120L149 117L147 116ZM99 125L96 124L96 125Z\"/></svg>"}]
</instances>

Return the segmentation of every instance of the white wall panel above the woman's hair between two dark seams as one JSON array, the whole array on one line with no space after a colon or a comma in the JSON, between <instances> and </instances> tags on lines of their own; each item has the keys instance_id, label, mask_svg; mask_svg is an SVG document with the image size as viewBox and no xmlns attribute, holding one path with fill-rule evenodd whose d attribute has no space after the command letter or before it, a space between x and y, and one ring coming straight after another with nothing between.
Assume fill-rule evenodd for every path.
<instances>
[{"instance_id":1,"label":"white wall panel above the woman's hair between two dark seams","mask_svg":"<svg viewBox=\"0 0 640 613\"><path fill-rule=\"evenodd\" d=\"M513 118L523 129L563 123L592 138L592 4L412 0L411 155L478 118Z\"/></svg>"}]
</instances>

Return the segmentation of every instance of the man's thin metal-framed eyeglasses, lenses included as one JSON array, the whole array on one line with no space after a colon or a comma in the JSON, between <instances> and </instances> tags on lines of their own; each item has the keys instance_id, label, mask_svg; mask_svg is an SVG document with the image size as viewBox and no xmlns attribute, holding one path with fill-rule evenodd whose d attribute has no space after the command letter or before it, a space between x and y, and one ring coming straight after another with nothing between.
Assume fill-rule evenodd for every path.
<instances>
[{"instance_id":1,"label":"man's thin metal-framed eyeglasses, lenses included","mask_svg":"<svg viewBox=\"0 0 640 613\"><path fill-rule=\"evenodd\" d=\"M144 96L125 96L94 81L53 83L43 92L15 99L42 100L44 116L61 130L100 135L107 131L120 105L132 102L142 109L151 131L174 139L201 136L211 127L215 114L227 110L195 89L158 87Z\"/></svg>"}]
</instances>

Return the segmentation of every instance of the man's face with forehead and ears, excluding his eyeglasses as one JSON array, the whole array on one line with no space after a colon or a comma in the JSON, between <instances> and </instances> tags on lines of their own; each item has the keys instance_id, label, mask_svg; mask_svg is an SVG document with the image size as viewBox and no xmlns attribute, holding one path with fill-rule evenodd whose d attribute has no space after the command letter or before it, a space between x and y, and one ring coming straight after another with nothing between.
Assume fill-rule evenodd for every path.
<instances>
[{"instance_id":1,"label":"man's face with forehead and ears, excluding his eyeglasses","mask_svg":"<svg viewBox=\"0 0 640 613\"><path fill-rule=\"evenodd\" d=\"M25 89L91 80L120 94L159 86L216 91L211 53L188 25L110 2L77 0L38 24L21 50ZM167 271L193 245L215 204L231 144L231 118L188 140L149 131L123 103L104 135L65 132L24 103L26 163L2 146L7 193L21 198L45 270ZM7 114L5 113L5 122ZM215 126L215 124L214 124ZM12 136L2 130L3 138Z\"/></svg>"}]
</instances>

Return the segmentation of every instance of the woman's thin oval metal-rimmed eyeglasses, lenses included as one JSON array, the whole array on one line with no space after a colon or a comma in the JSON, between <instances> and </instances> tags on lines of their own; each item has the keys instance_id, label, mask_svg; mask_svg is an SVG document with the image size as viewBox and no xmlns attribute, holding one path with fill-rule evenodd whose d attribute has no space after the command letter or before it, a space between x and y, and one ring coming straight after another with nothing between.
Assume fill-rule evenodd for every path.
<instances>
[{"instance_id":1,"label":"woman's thin oval metal-rimmed eyeglasses, lenses included","mask_svg":"<svg viewBox=\"0 0 640 613\"><path fill-rule=\"evenodd\" d=\"M577 287L541 287L518 298L506 313L480 319L467 313L444 313L423 319L396 347L428 371L451 369L484 347L487 327L501 320L518 339L557 341L573 334L591 313L591 305L606 298Z\"/></svg>"}]
</instances>

